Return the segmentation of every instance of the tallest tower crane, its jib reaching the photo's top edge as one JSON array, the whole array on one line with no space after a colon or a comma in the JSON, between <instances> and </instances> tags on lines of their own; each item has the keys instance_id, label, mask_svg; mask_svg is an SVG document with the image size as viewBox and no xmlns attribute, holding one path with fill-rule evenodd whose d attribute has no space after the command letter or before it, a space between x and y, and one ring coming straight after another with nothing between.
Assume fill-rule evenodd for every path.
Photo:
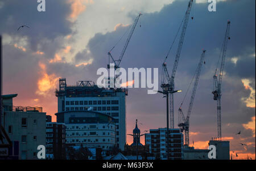
<instances>
[{"instance_id":1,"label":"tallest tower crane, its jib reaching the photo's top edge","mask_svg":"<svg viewBox=\"0 0 256 171\"><path fill-rule=\"evenodd\" d=\"M172 92L174 92L174 78L175 78L175 74L176 74L176 70L177 70L177 65L179 63L180 53L181 53L182 45L184 42L185 32L186 32L187 25L188 25L188 19L189 19L189 14L191 12L192 3L193 3L193 0L190 0L188 3L187 11L186 11L184 19L183 19L183 27L181 30L179 45L177 48L174 67L172 68L171 77L168 74L168 71L166 68L166 66L167 66L166 59L168 57L168 54L167 54L166 59L164 60L164 63L162 65L161 87L163 88L164 92L170 92L170 94L171 94L171 97L170 97L170 127L171 127L171 129L174 129L174 95L172 93Z\"/></svg>"}]
</instances>

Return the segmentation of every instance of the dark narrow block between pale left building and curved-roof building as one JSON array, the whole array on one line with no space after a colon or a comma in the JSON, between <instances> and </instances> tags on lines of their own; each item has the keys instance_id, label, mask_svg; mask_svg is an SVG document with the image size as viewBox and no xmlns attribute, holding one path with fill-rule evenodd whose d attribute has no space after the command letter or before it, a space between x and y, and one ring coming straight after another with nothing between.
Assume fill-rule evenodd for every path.
<instances>
[{"instance_id":1,"label":"dark narrow block between pale left building and curved-roof building","mask_svg":"<svg viewBox=\"0 0 256 171\"><path fill-rule=\"evenodd\" d=\"M65 159L65 124L46 122L46 155L49 159Z\"/></svg>"}]
</instances>

